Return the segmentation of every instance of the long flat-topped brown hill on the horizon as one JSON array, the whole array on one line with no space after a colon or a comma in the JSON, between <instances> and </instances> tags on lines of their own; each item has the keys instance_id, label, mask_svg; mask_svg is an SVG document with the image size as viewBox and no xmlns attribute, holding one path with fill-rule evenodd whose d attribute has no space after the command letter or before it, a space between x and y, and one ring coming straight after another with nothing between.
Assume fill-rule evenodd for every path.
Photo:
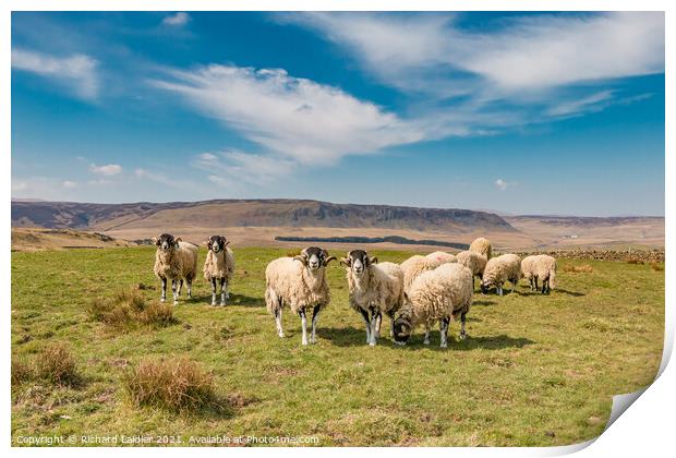
<instances>
[{"instance_id":1,"label":"long flat-topped brown hill on the horizon","mask_svg":"<svg viewBox=\"0 0 676 458\"><path fill-rule=\"evenodd\" d=\"M12 202L12 227L120 230L201 227L383 228L516 232L500 216L459 208L333 204L306 200L216 200L134 204Z\"/></svg>"}]
</instances>

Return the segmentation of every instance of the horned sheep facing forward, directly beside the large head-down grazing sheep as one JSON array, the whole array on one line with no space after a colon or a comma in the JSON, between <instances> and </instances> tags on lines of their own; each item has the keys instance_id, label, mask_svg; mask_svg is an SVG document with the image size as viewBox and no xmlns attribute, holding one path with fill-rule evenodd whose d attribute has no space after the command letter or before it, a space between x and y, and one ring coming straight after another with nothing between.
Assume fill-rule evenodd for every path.
<instances>
[{"instance_id":1,"label":"horned sheep facing forward, directly beside the large head-down grazing sheep","mask_svg":"<svg viewBox=\"0 0 676 458\"><path fill-rule=\"evenodd\" d=\"M394 336L395 312L403 302L403 272L399 264L378 263L363 250L349 251L340 264L347 267L350 306L361 313L366 324L366 343L373 347L381 337L383 313L389 316Z\"/></svg>"}]
</instances>

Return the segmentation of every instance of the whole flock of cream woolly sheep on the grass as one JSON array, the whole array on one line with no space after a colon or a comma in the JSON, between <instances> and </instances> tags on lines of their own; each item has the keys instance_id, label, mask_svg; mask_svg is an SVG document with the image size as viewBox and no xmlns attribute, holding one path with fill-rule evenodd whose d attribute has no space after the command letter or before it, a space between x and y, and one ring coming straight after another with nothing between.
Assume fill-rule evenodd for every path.
<instances>
[{"instance_id":1,"label":"whole flock of cream woolly sheep on the grass","mask_svg":"<svg viewBox=\"0 0 676 458\"><path fill-rule=\"evenodd\" d=\"M168 233L154 238L153 242L157 245L154 270L161 280L161 301L166 301L169 280L174 304L184 281L190 298L197 275L197 246ZM203 273L212 285L212 305L217 304L217 287L220 288L220 305L225 305L228 284L234 274L234 255L225 237L212 236L205 244L208 253ZM366 326L366 343L376 345L384 314L390 321L390 337L398 345L406 345L420 325L425 327L424 343L428 345L430 328L438 322L440 347L446 348L450 321L458 318L463 339L475 277L481 280L482 293L495 288L502 296L506 281L514 290L521 278L529 280L531 290L540 290L538 281L542 281L543 294L555 288L554 257L540 254L521 260L516 254L495 257L492 254L491 242L484 238L474 240L468 251L457 255L437 251L411 256L401 264L378 263L363 250L348 252L340 264L346 267L350 306L362 315ZM288 308L301 318L302 343L316 341L317 318L330 302L326 267L336 260L326 250L309 246L297 256L279 257L267 265L265 303L275 316L279 337L283 337L281 312ZM307 338L306 315L311 311Z\"/></svg>"}]
</instances>

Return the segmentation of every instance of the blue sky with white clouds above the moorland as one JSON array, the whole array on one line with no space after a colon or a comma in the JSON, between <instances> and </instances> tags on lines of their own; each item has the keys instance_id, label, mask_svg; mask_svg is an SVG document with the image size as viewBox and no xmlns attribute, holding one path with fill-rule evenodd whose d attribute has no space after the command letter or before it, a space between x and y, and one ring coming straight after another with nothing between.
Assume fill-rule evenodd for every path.
<instances>
[{"instance_id":1,"label":"blue sky with white clouds above the moorland","mask_svg":"<svg viewBox=\"0 0 676 458\"><path fill-rule=\"evenodd\" d=\"M12 197L664 215L657 13L13 12Z\"/></svg>"}]
</instances>

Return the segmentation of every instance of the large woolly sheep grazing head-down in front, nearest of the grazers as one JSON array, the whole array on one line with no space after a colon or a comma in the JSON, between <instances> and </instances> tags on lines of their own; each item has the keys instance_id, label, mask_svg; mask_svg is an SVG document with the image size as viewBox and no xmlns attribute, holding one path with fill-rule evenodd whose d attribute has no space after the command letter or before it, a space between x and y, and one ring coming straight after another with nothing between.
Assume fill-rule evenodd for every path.
<instances>
[{"instance_id":1,"label":"large woolly sheep grazing head-down in front, nearest of the grazers","mask_svg":"<svg viewBox=\"0 0 676 458\"><path fill-rule=\"evenodd\" d=\"M460 316L460 339L467 337L467 313L472 304L472 272L457 263L444 264L421 274L405 296L395 321L395 342L406 345L415 326L424 324L424 343L430 345L430 327L439 322L440 347L448 346L450 320Z\"/></svg>"}]
</instances>

